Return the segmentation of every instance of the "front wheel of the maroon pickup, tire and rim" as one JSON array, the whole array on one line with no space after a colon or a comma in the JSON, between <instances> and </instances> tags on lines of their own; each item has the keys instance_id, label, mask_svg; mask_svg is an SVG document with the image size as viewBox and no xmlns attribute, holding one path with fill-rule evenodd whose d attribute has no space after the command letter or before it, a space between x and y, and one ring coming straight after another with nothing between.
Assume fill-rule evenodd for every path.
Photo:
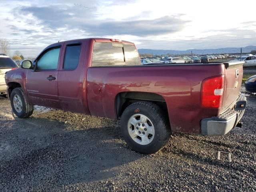
<instances>
[{"instance_id":1,"label":"front wheel of the maroon pickup, tire and rim","mask_svg":"<svg viewBox=\"0 0 256 192\"><path fill-rule=\"evenodd\" d=\"M26 100L22 88L15 88L12 90L11 96L12 111L20 118L26 118L32 115L34 105L29 104Z\"/></svg>"}]
</instances>

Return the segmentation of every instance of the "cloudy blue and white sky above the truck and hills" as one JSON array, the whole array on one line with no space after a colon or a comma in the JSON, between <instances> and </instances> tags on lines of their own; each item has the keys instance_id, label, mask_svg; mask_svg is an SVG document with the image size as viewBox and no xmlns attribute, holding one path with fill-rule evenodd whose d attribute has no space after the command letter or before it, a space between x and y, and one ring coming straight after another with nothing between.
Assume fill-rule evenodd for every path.
<instances>
[{"instance_id":1,"label":"cloudy blue and white sky above the truck and hills","mask_svg":"<svg viewBox=\"0 0 256 192\"><path fill-rule=\"evenodd\" d=\"M256 45L256 1L0 0L0 38L36 56L78 38L117 38L137 48L187 50Z\"/></svg>"}]
</instances>

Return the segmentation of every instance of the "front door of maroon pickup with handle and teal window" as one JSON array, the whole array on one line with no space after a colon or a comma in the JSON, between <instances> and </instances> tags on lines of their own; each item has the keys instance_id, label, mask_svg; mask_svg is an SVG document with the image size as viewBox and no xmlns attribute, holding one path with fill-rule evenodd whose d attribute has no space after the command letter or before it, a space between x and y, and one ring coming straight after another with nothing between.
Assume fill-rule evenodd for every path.
<instances>
[{"instance_id":1,"label":"front door of maroon pickup with handle and teal window","mask_svg":"<svg viewBox=\"0 0 256 192\"><path fill-rule=\"evenodd\" d=\"M60 46L51 47L34 61L36 70L27 70L26 91L31 103L60 108L57 92L57 68Z\"/></svg>"}]
</instances>

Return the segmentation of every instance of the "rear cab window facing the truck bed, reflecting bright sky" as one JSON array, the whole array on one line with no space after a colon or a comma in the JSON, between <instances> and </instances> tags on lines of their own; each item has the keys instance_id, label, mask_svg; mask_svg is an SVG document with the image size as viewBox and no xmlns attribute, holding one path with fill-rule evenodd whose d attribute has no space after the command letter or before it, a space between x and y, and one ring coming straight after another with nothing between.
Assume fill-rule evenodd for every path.
<instances>
[{"instance_id":1,"label":"rear cab window facing the truck bed, reflecting bright sky","mask_svg":"<svg viewBox=\"0 0 256 192\"><path fill-rule=\"evenodd\" d=\"M140 57L134 45L95 42L92 66L140 65Z\"/></svg>"}]
</instances>

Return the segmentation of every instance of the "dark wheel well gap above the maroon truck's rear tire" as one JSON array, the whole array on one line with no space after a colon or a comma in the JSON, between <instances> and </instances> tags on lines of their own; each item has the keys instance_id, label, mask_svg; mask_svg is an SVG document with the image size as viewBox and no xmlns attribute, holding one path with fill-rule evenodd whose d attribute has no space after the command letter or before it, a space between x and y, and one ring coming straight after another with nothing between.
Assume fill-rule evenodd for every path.
<instances>
[{"instance_id":1,"label":"dark wheel well gap above the maroon truck's rear tire","mask_svg":"<svg viewBox=\"0 0 256 192\"><path fill-rule=\"evenodd\" d=\"M115 99L116 116L122 116L124 110L130 105L138 101L150 101L160 106L166 114L168 114L166 101L164 98L156 93L150 92L121 92Z\"/></svg>"}]
</instances>

